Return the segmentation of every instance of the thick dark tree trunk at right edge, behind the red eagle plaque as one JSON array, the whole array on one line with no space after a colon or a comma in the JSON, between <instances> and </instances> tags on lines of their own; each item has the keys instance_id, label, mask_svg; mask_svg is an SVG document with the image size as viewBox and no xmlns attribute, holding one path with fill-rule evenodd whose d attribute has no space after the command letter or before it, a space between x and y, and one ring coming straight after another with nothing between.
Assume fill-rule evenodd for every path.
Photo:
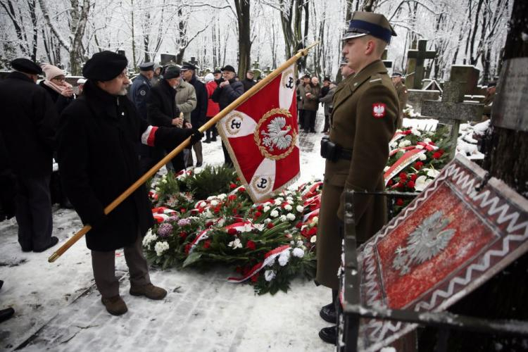
<instances>
[{"instance_id":1,"label":"thick dark tree trunk at right edge, behind the red eagle plaque","mask_svg":"<svg viewBox=\"0 0 528 352\"><path fill-rule=\"evenodd\" d=\"M528 46L522 40L522 33L528 33L527 13L528 1L515 0L506 39L505 59L528 56ZM484 169L527 197L528 132L494 127L491 141L485 144L485 149ZM449 310L489 319L528 320L527 268L528 254L524 254ZM490 351L494 346L501 346L501 351L526 351L527 343L526 338L453 331L448 351ZM428 350L427 346L423 347L423 351Z\"/></svg>"}]
</instances>

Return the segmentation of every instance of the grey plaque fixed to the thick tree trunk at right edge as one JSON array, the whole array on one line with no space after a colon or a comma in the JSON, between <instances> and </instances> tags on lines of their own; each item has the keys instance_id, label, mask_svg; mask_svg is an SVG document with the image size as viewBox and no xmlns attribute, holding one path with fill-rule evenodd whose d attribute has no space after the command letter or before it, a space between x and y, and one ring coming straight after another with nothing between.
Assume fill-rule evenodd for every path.
<instances>
[{"instance_id":1,"label":"grey plaque fixed to the thick tree trunk at right edge","mask_svg":"<svg viewBox=\"0 0 528 352\"><path fill-rule=\"evenodd\" d=\"M491 123L497 127L528 132L528 113L524 99L528 92L528 58L510 58L503 64Z\"/></svg>"}]
</instances>

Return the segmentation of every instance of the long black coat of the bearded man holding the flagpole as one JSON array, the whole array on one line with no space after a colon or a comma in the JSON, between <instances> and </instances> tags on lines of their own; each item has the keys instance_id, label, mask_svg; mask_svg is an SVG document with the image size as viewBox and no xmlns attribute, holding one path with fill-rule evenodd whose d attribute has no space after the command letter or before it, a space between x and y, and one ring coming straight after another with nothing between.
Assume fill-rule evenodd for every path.
<instances>
[{"instance_id":1,"label":"long black coat of the bearded man holding the flagpole","mask_svg":"<svg viewBox=\"0 0 528 352\"><path fill-rule=\"evenodd\" d=\"M130 246L154 224L144 185L104 215L103 209L141 176L134 148L147 130L126 96L113 96L88 80L82 96L65 108L58 131L58 159L66 194L94 251ZM192 133L159 127L154 144L172 149Z\"/></svg>"}]
</instances>

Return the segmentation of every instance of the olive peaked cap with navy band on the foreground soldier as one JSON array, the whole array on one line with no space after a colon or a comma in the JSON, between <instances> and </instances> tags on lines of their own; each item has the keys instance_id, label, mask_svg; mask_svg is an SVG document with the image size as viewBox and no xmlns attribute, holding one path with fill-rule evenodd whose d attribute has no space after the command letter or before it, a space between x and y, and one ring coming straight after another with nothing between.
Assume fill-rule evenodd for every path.
<instances>
[{"instance_id":1,"label":"olive peaked cap with navy band on the foreground soldier","mask_svg":"<svg viewBox=\"0 0 528 352\"><path fill-rule=\"evenodd\" d=\"M350 23L348 23L348 30L346 30L343 40L363 37L367 34L382 39L387 43L391 42L391 37L396 36L394 28L384 15L356 11L353 13Z\"/></svg>"}]
</instances>

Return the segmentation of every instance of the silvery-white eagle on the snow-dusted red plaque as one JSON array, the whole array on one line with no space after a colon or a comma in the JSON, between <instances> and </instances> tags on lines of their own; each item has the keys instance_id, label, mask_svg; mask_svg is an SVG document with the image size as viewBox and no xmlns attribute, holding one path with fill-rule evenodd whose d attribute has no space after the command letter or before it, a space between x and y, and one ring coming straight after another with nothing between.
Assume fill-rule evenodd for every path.
<instances>
[{"instance_id":1,"label":"silvery-white eagle on the snow-dusted red plaque","mask_svg":"<svg viewBox=\"0 0 528 352\"><path fill-rule=\"evenodd\" d=\"M449 222L440 210L423 220L409 235L408 246L396 249L392 268L406 275L411 266L425 263L443 251L455 234L453 229L444 230Z\"/></svg>"}]
</instances>

